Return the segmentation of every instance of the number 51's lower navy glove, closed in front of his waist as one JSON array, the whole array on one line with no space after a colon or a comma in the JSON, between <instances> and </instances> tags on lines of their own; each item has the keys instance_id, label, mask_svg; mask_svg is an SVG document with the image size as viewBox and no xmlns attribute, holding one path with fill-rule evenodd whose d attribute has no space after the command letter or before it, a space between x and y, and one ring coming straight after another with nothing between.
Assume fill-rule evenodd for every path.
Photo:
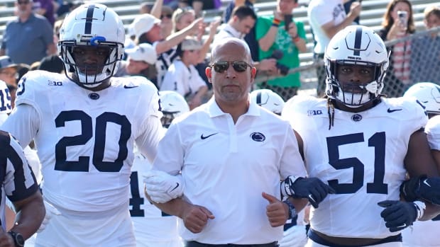
<instances>
[{"instance_id":1,"label":"number 51's lower navy glove, closed in front of his waist","mask_svg":"<svg viewBox=\"0 0 440 247\"><path fill-rule=\"evenodd\" d=\"M385 220L385 226L391 232L400 231L417 219L417 207L412 202L385 200L378 202L380 207L385 207L380 216Z\"/></svg>"}]
</instances>

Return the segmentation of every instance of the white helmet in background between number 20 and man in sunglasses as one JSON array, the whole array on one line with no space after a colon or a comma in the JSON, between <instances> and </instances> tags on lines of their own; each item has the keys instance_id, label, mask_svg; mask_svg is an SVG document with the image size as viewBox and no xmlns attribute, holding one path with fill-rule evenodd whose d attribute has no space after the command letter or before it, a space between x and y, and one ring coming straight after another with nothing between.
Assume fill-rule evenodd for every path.
<instances>
[{"instance_id":1,"label":"white helmet in background between number 20 and man in sunglasses","mask_svg":"<svg viewBox=\"0 0 440 247\"><path fill-rule=\"evenodd\" d=\"M185 98L176 91L160 91L160 108L162 109L163 117L160 119L162 126L170 127L172 120L189 112L189 106Z\"/></svg>"}]
</instances>

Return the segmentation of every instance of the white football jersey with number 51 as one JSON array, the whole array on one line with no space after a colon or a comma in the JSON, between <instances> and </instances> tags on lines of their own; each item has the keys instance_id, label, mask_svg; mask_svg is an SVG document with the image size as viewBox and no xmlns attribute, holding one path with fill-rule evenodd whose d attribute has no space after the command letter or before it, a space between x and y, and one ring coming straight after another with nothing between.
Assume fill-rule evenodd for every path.
<instances>
[{"instance_id":1,"label":"white football jersey with number 51","mask_svg":"<svg viewBox=\"0 0 440 247\"><path fill-rule=\"evenodd\" d=\"M361 113L334 109L329 130L327 100L295 96L282 115L304 141L309 176L336 190L319 208L312 207L312 229L336 237L395 235L385 227L378 202L399 200L409 137L427 123L422 106L415 100L382 98Z\"/></svg>"}]
</instances>

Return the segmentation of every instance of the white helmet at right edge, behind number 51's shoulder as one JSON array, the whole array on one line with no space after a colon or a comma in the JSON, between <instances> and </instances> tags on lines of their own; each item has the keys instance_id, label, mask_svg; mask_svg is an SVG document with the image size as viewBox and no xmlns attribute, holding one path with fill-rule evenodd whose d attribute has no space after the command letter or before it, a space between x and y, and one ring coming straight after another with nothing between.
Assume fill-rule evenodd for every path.
<instances>
[{"instance_id":1,"label":"white helmet at right edge, behind number 51's shoulder","mask_svg":"<svg viewBox=\"0 0 440 247\"><path fill-rule=\"evenodd\" d=\"M412 85L403 95L417 98L428 114L440 114L440 86L431 82L419 82Z\"/></svg>"}]
</instances>

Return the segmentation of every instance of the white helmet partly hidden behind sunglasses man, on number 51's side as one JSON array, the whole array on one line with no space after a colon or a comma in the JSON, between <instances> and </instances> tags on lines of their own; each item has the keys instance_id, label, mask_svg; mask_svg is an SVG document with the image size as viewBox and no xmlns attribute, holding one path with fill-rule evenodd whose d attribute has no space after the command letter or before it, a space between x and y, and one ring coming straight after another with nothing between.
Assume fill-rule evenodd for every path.
<instances>
[{"instance_id":1,"label":"white helmet partly hidden behind sunglasses man, on number 51's side","mask_svg":"<svg viewBox=\"0 0 440 247\"><path fill-rule=\"evenodd\" d=\"M271 112L281 115L284 100L270 89L256 89L251 92L251 100Z\"/></svg>"}]
</instances>

